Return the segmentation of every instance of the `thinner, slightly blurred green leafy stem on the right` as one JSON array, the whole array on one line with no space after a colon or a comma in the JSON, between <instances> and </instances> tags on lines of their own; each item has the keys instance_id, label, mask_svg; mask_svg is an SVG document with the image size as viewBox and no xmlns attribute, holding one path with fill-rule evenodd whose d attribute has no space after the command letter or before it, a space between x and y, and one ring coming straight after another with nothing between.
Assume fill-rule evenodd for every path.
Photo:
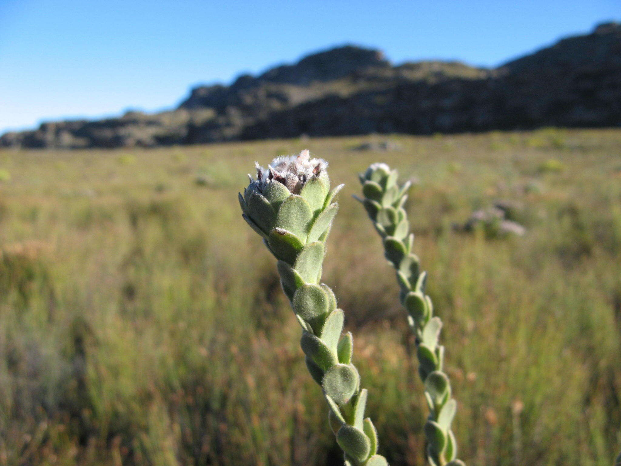
<instances>
[{"instance_id":1,"label":"thinner, slightly blurred green leafy stem on the right","mask_svg":"<svg viewBox=\"0 0 621 466\"><path fill-rule=\"evenodd\" d=\"M430 414L425 423L427 459L432 466L458 466L457 444L451 431L456 401L451 398L451 386L442 370L444 347L439 344L442 321L433 316L433 306L425 295L427 273L420 272L419 258L413 252L414 235L403 208L410 183L397 185L397 170L385 163L373 163L360 175L365 206L375 229L382 237L384 255L397 272L401 287L401 303L407 320L416 335L419 375L425 386L425 398Z\"/></svg>"}]
</instances>

